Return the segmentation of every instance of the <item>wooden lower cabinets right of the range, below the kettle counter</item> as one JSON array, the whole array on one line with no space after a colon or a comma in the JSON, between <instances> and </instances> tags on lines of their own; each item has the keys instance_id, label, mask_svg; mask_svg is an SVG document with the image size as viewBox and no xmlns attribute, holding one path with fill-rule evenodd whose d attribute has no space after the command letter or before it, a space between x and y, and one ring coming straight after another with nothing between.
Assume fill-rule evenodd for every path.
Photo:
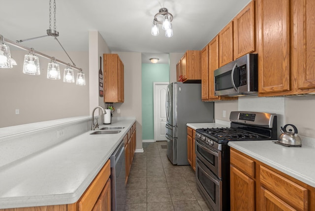
<instances>
[{"instance_id":1,"label":"wooden lower cabinets right of the range, below the kettle counter","mask_svg":"<svg viewBox=\"0 0 315 211\"><path fill-rule=\"evenodd\" d=\"M231 211L315 211L315 188L230 150Z\"/></svg>"}]
</instances>

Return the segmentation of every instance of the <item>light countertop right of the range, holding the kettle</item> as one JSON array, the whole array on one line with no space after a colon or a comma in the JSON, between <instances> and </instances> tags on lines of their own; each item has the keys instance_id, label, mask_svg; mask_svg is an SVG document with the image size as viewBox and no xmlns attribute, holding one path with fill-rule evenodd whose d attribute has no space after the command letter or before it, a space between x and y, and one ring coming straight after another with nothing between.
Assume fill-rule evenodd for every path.
<instances>
[{"instance_id":1,"label":"light countertop right of the range, holding the kettle","mask_svg":"<svg viewBox=\"0 0 315 211\"><path fill-rule=\"evenodd\" d=\"M315 187L315 147L287 147L273 141L229 141L228 145L289 176Z\"/></svg>"}]
</instances>

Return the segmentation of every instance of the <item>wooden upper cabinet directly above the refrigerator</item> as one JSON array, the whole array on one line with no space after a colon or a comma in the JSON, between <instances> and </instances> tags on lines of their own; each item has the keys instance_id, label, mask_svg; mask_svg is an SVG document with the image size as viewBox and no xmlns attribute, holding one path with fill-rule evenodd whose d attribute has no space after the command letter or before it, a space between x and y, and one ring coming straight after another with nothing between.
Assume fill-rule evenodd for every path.
<instances>
[{"instance_id":1,"label":"wooden upper cabinet directly above the refrigerator","mask_svg":"<svg viewBox=\"0 0 315 211\"><path fill-rule=\"evenodd\" d=\"M201 80L201 51L186 51L181 59L183 81Z\"/></svg>"}]
</instances>

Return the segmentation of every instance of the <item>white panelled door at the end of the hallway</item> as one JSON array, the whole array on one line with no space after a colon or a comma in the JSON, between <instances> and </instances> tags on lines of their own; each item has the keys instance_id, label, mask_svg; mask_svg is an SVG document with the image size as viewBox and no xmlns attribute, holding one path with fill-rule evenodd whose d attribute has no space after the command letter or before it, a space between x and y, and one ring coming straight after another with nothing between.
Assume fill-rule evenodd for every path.
<instances>
[{"instance_id":1,"label":"white panelled door at the end of the hallway","mask_svg":"<svg viewBox=\"0 0 315 211\"><path fill-rule=\"evenodd\" d=\"M167 82L154 82L154 140L166 141L166 90Z\"/></svg>"}]
</instances>

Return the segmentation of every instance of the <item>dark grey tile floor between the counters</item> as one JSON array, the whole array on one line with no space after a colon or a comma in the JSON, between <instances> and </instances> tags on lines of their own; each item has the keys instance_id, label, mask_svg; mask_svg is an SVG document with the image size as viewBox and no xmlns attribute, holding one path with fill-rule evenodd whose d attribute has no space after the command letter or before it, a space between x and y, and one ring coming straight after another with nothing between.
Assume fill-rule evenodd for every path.
<instances>
[{"instance_id":1,"label":"dark grey tile floor between the counters","mask_svg":"<svg viewBox=\"0 0 315 211\"><path fill-rule=\"evenodd\" d=\"M174 166L166 141L143 143L135 153L126 186L126 211L209 211L190 166Z\"/></svg>"}]
</instances>

